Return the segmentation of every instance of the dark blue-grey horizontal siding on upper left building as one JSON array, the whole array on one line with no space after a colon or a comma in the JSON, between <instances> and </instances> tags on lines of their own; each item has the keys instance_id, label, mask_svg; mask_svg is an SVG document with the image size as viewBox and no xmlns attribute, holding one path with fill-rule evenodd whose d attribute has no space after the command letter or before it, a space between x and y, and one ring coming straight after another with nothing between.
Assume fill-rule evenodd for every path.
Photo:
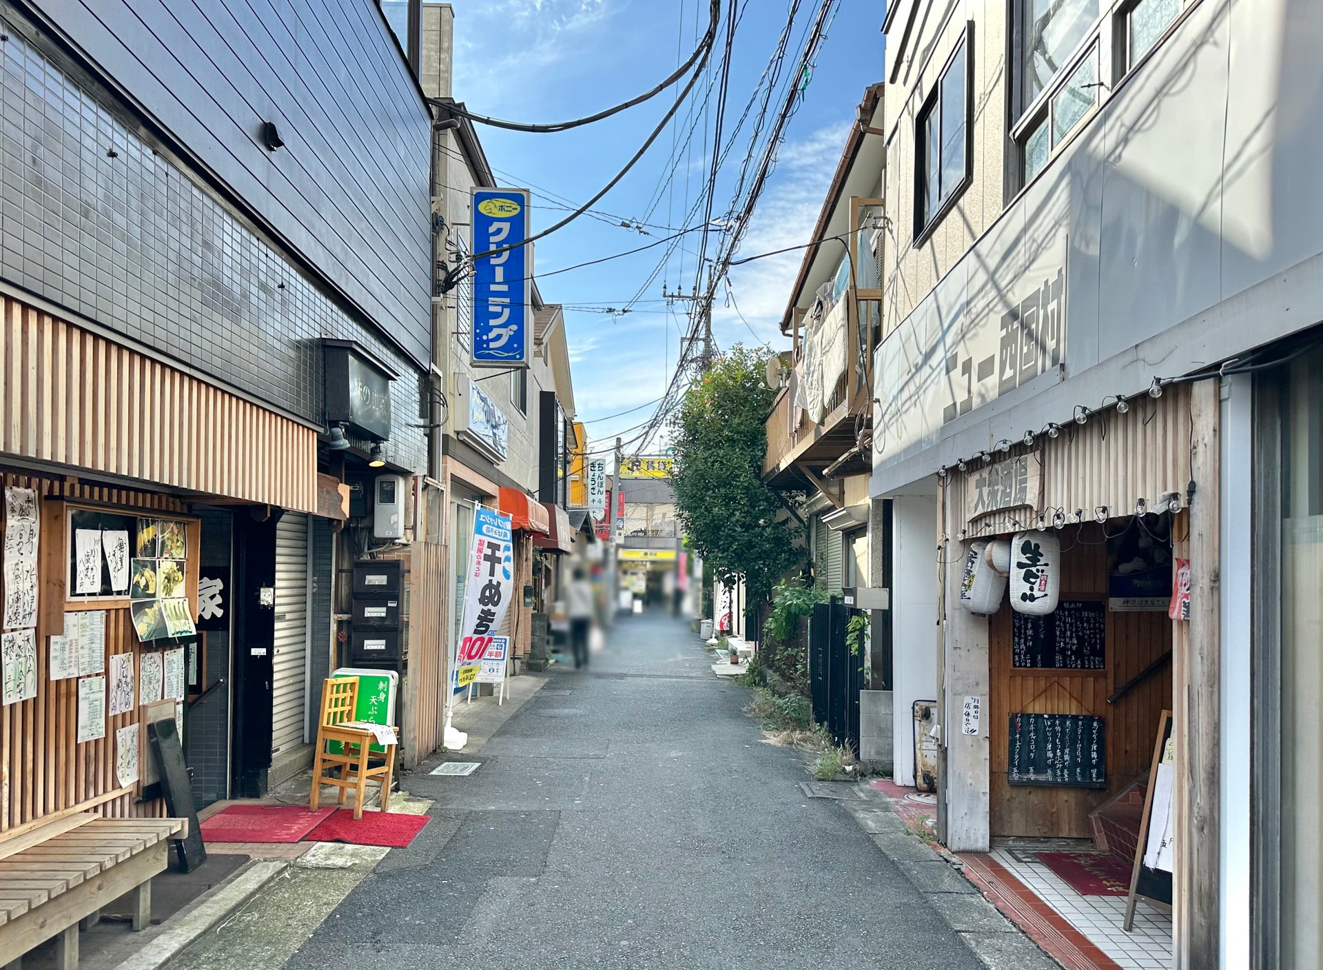
<instances>
[{"instance_id":1,"label":"dark blue-grey horizontal siding on upper left building","mask_svg":"<svg viewBox=\"0 0 1323 970\"><path fill-rule=\"evenodd\" d=\"M33 4L288 246L430 360L430 115L369 0ZM274 122L284 147L262 144Z\"/></svg>"}]
</instances>

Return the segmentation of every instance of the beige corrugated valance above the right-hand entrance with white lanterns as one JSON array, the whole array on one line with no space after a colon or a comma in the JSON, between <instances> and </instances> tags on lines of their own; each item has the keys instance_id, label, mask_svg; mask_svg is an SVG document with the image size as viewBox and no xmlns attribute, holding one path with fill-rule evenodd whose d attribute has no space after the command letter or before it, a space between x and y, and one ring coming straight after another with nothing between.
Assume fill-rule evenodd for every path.
<instances>
[{"instance_id":1,"label":"beige corrugated valance above the right-hand entrance with white lanterns","mask_svg":"<svg viewBox=\"0 0 1323 970\"><path fill-rule=\"evenodd\" d=\"M1065 423L1057 438L1039 435L1032 447L1021 442L995 458L1003 461L1023 453L1037 454L1041 462L1041 507L979 516L968 524L957 523L953 532L964 528L966 539L978 539L1037 528L1039 513L1050 525L1057 509L1062 509L1068 521L1077 511L1084 512L1082 521L1091 521L1101 506L1115 519L1131 515L1136 500L1144 499L1152 507L1159 495L1171 491L1180 492L1184 502L1191 479L1189 385L1168 385L1159 398L1139 397L1130 402L1126 414L1111 409L1082 426Z\"/></svg>"}]
</instances>

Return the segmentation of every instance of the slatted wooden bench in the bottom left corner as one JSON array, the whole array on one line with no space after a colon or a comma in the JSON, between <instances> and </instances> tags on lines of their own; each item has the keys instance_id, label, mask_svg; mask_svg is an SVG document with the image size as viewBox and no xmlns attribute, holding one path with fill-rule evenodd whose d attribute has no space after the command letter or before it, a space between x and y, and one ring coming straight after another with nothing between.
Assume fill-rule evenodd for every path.
<instances>
[{"instance_id":1,"label":"slatted wooden bench in the bottom left corner","mask_svg":"<svg viewBox=\"0 0 1323 970\"><path fill-rule=\"evenodd\" d=\"M0 842L0 954L19 970L22 954L53 937L56 966L78 966L78 928L126 893L135 893L132 928L152 913L152 876L165 869L169 840L187 835L181 818L67 815Z\"/></svg>"}]
</instances>

